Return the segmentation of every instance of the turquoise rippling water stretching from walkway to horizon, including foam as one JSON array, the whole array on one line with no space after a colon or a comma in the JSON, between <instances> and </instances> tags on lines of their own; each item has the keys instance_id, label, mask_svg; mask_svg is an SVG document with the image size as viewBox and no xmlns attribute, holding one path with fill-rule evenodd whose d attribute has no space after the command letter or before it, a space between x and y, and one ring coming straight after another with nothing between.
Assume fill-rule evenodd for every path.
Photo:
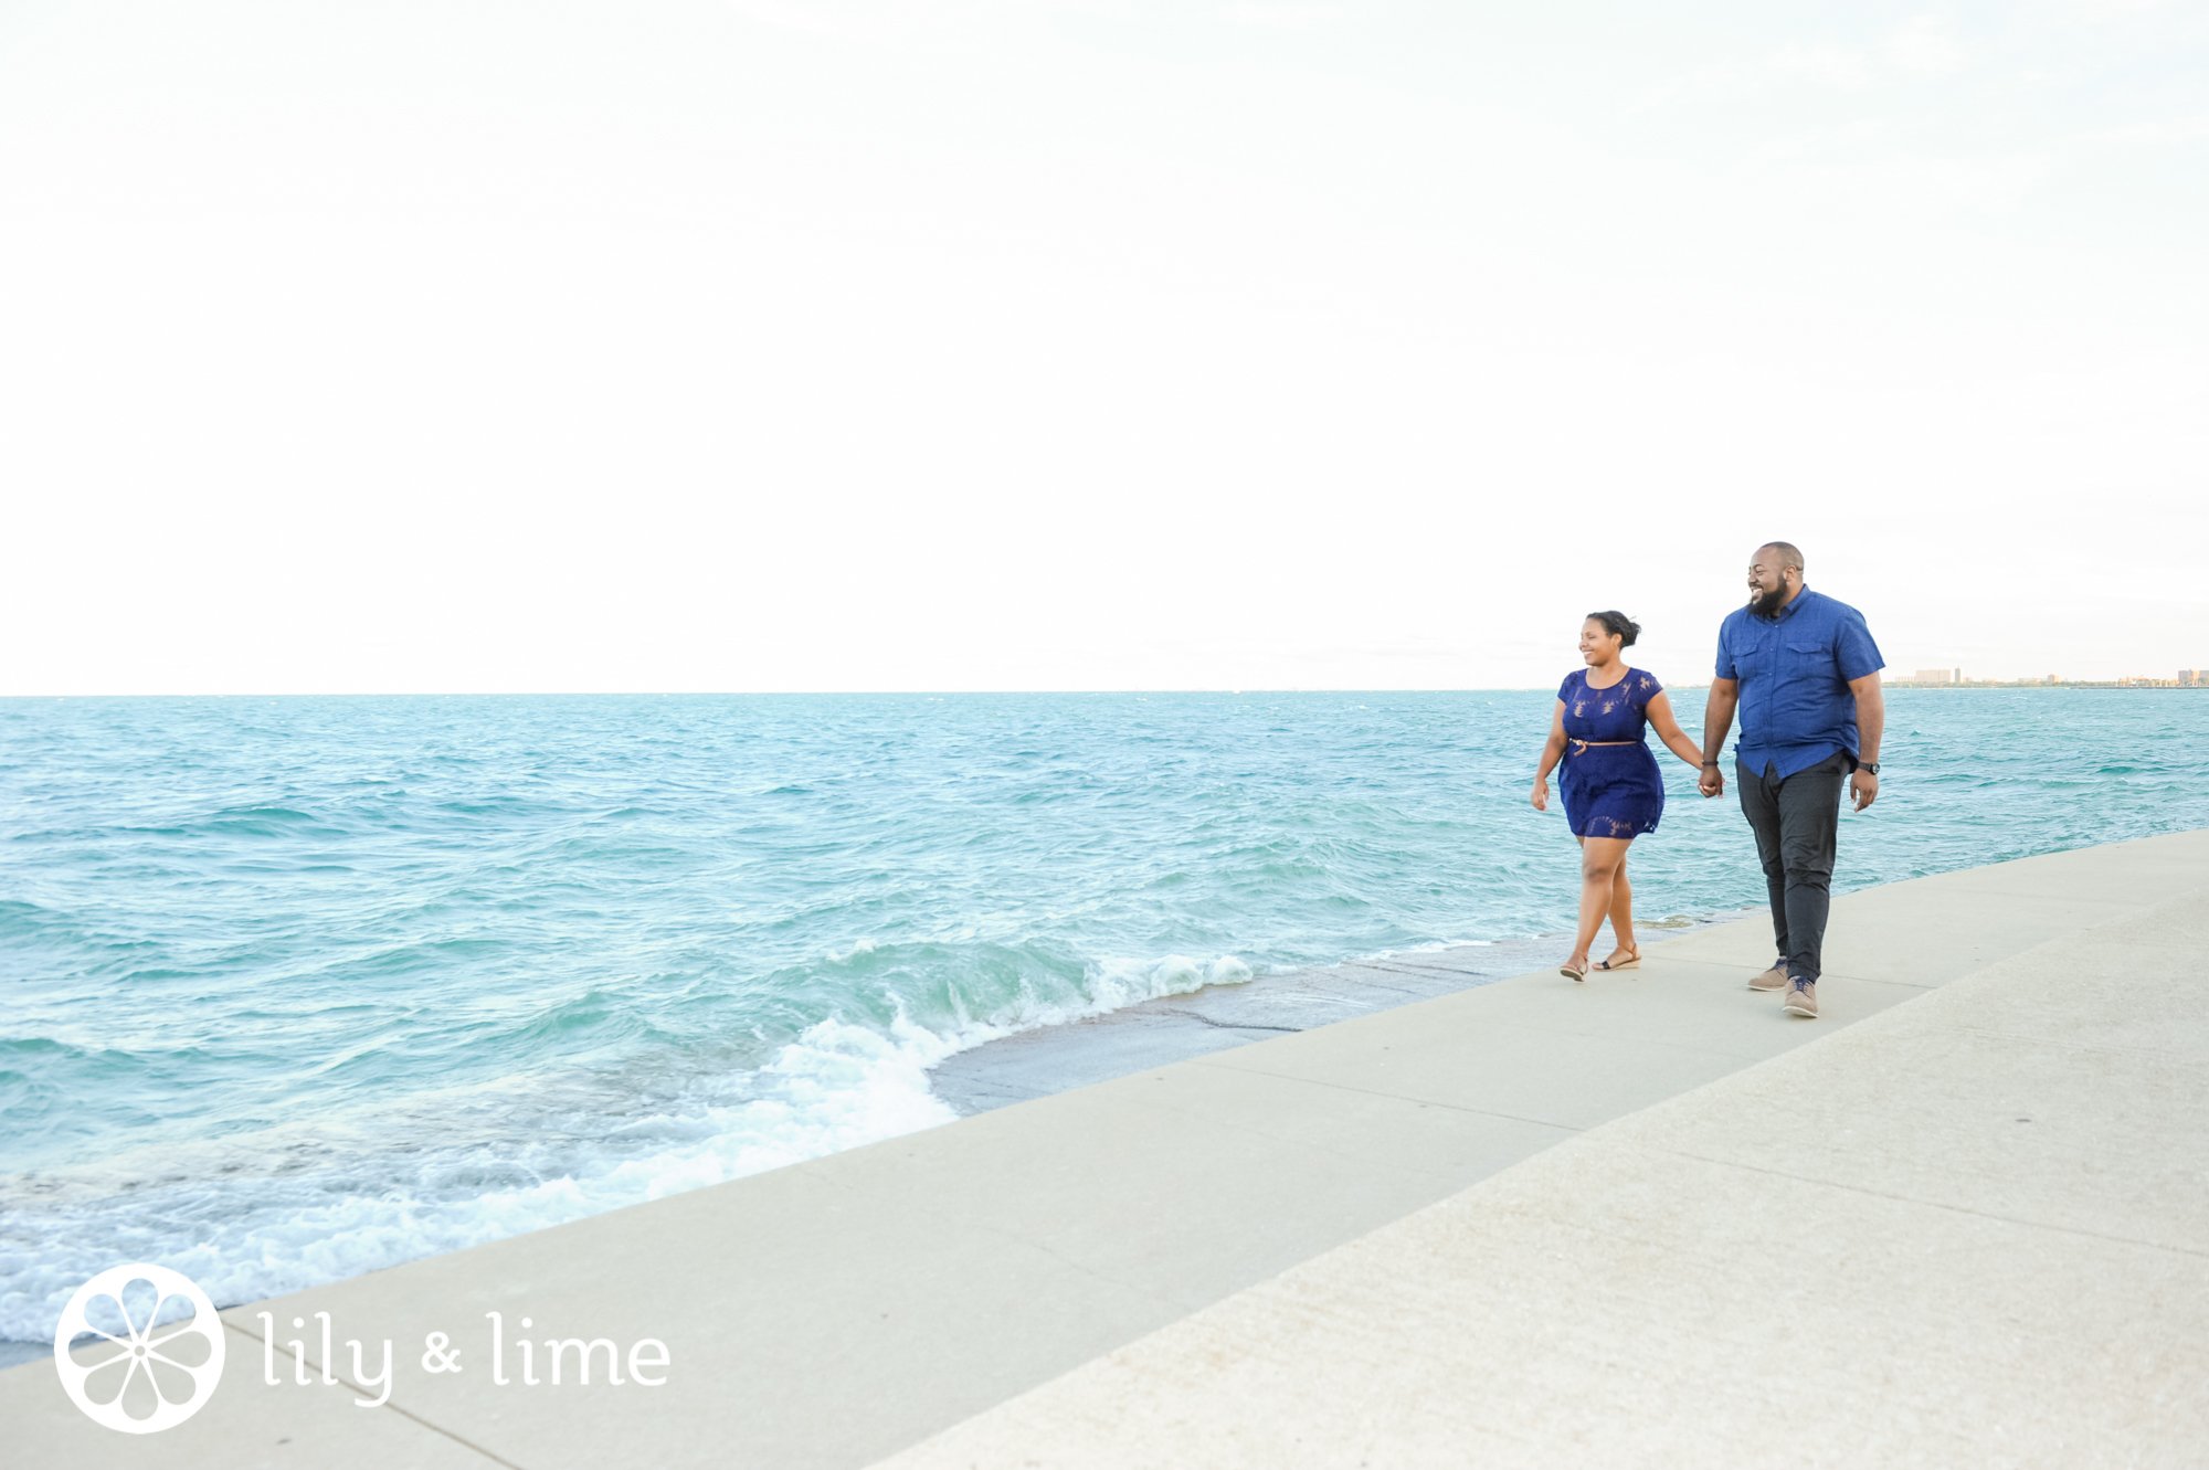
<instances>
[{"instance_id":1,"label":"turquoise rippling water stretching from walkway to horizon, including foam","mask_svg":"<svg viewBox=\"0 0 2209 1470\"><path fill-rule=\"evenodd\" d=\"M1701 695L1674 697L1699 726ZM928 1066L1571 925L1549 693L0 702L0 1338L945 1121ZM1838 885L2209 825L2209 695L1893 691ZM1666 757L1643 918L1763 887Z\"/></svg>"}]
</instances>

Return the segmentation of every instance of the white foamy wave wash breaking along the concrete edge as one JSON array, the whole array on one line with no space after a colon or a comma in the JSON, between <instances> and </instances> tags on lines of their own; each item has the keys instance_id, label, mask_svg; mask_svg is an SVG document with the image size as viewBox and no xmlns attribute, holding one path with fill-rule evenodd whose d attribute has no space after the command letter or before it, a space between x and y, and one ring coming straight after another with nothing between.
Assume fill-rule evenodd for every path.
<instances>
[{"instance_id":1,"label":"white foamy wave wash breaking along the concrete edge","mask_svg":"<svg viewBox=\"0 0 2209 1470\"><path fill-rule=\"evenodd\" d=\"M943 1057L1246 980L1235 956L1109 960L1076 995L1023 987L990 1015L923 1026L892 1002L886 1029L822 1020L711 1084L515 1077L0 1179L0 1338L51 1338L68 1296L124 1260L252 1302L948 1123L928 1088Z\"/></svg>"}]
</instances>

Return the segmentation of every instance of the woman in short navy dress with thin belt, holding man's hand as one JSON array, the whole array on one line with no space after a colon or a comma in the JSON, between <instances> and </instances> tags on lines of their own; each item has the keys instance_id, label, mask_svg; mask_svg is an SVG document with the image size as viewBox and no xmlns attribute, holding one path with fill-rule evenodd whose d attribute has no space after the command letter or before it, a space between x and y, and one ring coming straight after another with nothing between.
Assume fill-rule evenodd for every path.
<instances>
[{"instance_id":1,"label":"woman in short navy dress with thin belt, holding man's hand","mask_svg":"<svg viewBox=\"0 0 2209 1470\"><path fill-rule=\"evenodd\" d=\"M1595 969L1635 969L1635 890L1626 883L1626 850L1663 814L1663 777L1657 757L1641 744L1646 726L1674 755L1703 770L1703 753L1679 728L1672 702L1655 675L1628 669L1621 653L1641 627L1621 611L1588 614L1579 625L1579 658L1588 664L1564 675L1557 713L1542 746L1542 768L1533 775L1533 810L1549 810L1549 773L1564 761L1564 817L1579 841L1579 936L1557 973L1588 978L1588 947L1610 916L1617 949Z\"/></svg>"}]
</instances>

